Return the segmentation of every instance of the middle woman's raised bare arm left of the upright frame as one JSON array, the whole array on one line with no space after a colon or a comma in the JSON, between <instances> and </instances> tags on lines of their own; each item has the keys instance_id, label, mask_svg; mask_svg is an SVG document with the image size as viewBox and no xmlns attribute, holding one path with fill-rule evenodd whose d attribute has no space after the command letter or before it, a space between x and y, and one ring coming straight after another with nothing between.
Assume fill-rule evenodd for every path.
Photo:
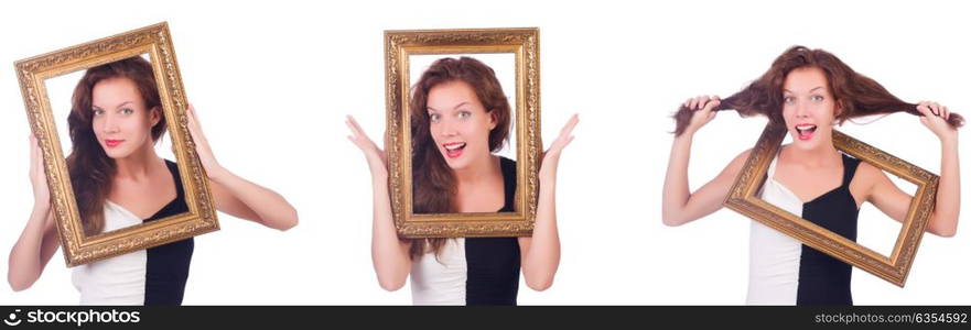
<instances>
[{"instance_id":1,"label":"middle woman's raised bare arm left of the upright frame","mask_svg":"<svg viewBox=\"0 0 971 330\"><path fill-rule=\"evenodd\" d=\"M367 138L353 117L347 117L350 140L364 152L371 172L374 190L374 223L371 227L371 262L381 288L393 292L404 286L411 273L411 257L408 251L411 241L399 240L398 230L391 217L391 199L388 191L388 165L385 152Z\"/></svg>"}]
</instances>

